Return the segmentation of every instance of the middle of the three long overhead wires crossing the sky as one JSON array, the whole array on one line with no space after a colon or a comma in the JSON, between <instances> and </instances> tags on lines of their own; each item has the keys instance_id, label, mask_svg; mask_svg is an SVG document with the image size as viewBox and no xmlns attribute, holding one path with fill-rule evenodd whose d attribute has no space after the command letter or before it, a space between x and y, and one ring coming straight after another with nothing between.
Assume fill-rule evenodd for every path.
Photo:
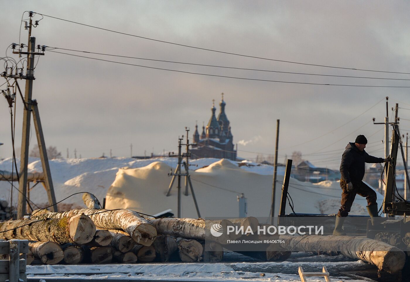
<instances>
[{"instance_id":1,"label":"middle of the three long overhead wires crossing the sky","mask_svg":"<svg viewBox=\"0 0 410 282\"><path fill-rule=\"evenodd\" d=\"M308 76L331 76L331 77L343 77L343 78L367 78L367 79L385 79L385 80L410 80L408 78L377 78L377 77L367 77L367 76L337 76L337 75L319 74L319 73L298 73L298 72L290 72L290 71L273 71L273 70L266 70L266 69L239 68L239 67L233 67L233 66L217 66L217 65L210 65L210 64L195 64L195 63L188 63L188 62L176 62L176 61L168 61L168 60L156 60L156 59L148 59L148 58L141 58L141 57L113 55L113 54L106 54L106 53L96 53L96 52L90 52L90 51L74 50L74 49L59 48L59 47L50 47L50 46L48 46L48 47L52 48L52 49L60 49L60 50L67 50L67 51L74 51L74 52L81 52L81 53L89 53L89 54L96 54L96 55L105 55L105 56L112 56L112 57L137 59L137 60L147 60L147 61L154 61L154 62L166 62L166 63L174 63L174 64L189 64L189 65L193 65L193 66L210 66L210 67L224 68L224 69L240 69L240 70L246 70L246 71L264 71L264 72L274 72L274 73L289 73L289 74L301 74L301 75L308 75ZM50 49L47 49L47 50L50 50Z\"/></svg>"}]
</instances>

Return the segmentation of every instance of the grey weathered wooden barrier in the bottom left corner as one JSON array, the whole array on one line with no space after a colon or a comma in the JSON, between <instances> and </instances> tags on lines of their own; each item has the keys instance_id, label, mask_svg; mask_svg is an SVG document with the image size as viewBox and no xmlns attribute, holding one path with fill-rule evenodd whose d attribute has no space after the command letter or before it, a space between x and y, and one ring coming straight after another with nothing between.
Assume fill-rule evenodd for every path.
<instances>
[{"instance_id":1,"label":"grey weathered wooden barrier in the bottom left corner","mask_svg":"<svg viewBox=\"0 0 410 282\"><path fill-rule=\"evenodd\" d=\"M6 255L6 259L0 259L0 282L27 282L28 252L28 240L0 241L0 257Z\"/></svg>"}]
</instances>

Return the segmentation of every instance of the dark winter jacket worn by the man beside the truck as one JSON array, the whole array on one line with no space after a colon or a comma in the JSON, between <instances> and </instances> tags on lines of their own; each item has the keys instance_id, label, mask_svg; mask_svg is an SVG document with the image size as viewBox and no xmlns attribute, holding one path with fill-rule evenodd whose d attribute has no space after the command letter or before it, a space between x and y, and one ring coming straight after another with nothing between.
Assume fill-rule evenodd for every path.
<instances>
[{"instance_id":1,"label":"dark winter jacket worn by the man beside the truck","mask_svg":"<svg viewBox=\"0 0 410 282\"><path fill-rule=\"evenodd\" d=\"M383 163L383 158L370 156L366 151L360 151L355 143L349 142L342 155L340 174L346 183L362 181L364 177L364 163Z\"/></svg>"}]
</instances>

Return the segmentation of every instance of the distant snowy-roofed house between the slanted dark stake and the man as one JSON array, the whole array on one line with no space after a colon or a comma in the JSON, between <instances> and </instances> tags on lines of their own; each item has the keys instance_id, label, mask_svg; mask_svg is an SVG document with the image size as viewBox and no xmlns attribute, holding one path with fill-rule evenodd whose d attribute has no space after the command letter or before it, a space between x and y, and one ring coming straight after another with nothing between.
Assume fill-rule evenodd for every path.
<instances>
[{"instance_id":1,"label":"distant snowy-roofed house between the slanted dark stake and the man","mask_svg":"<svg viewBox=\"0 0 410 282\"><path fill-rule=\"evenodd\" d=\"M296 166L294 177L300 181L319 183L325 180L336 181L340 179L340 172L327 167L317 167L308 160L303 160Z\"/></svg>"}]
</instances>

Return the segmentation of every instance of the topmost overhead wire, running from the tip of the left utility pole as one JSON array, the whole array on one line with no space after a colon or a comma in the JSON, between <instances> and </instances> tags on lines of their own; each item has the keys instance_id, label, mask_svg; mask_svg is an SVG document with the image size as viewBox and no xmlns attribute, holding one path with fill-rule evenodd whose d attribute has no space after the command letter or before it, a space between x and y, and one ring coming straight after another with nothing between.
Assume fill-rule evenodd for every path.
<instances>
[{"instance_id":1,"label":"topmost overhead wire, running from the tip of the left utility pole","mask_svg":"<svg viewBox=\"0 0 410 282\"><path fill-rule=\"evenodd\" d=\"M350 70L355 70L355 71L373 71L373 72L383 72L383 73L410 74L410 73L398 72L398 71L377 71L377 70L370 70L370 69L347 68L347 67L340 67L340 66L326 66L326 65L321 65L321 64L307 64L307 63L301 63L301 62L292 62L292 61L269 59L269 58L264 58L264 57L251 56L251 55L243 55L243 54L238 54L238 53L231 53L231 52L225 52L225 51L220 51L220 50L213 50L213 49L208 49L208 48L201 48L201 47L196 47L196 46L179 44L179 43L164 41L164 40L159 40L159 39L153 39L153 38L143 37L143 36L139 36L139 35L135 35L135 34L129 34L129 33L119 32L119 31L115 31L115 30L109 30L107 28L99 28L99 27L96 27L96 26L93 26L93 25L87 25L85 23L78 23L78 22L75 22L75 21L69 21L69 20L66 20L66 19L63 19L63 18L57 18L57 17L54 17L54 16L48 16L48 15L45 15L45 14L40 14L40 13L36 13L36 14L39 14L41 16L46 16L46 17L49 17L49 18L55 18L57 20L66 21L66 22L69 22L69 23L75 23L75 24L78 24L78 25L88 26L90 28L96 28L96 29L99 29L99 30L105 30L105 31L114 32L114 33L118 33L118 34L132 36L132 37L138 37L138 38L141 38L141 39L147 39L147 40L152 40L152 41L157 41L157 42L162 42L162 43L167 43L167 44L173 44L173 45L177 45L177 46L183 46L183 47L194 48L194 49L199 49L199 50L211 51L211 52L216 52L216 53L223 53L223 54L228 54L228 55L249 57L249 58L276 61L276 62L285 62L285 63L291 63L291 64L303 64L303 65L307 65L307 66L321 66L321 67L335 68L335 69L350 69Z\"/></svg>"}]
</instances>

